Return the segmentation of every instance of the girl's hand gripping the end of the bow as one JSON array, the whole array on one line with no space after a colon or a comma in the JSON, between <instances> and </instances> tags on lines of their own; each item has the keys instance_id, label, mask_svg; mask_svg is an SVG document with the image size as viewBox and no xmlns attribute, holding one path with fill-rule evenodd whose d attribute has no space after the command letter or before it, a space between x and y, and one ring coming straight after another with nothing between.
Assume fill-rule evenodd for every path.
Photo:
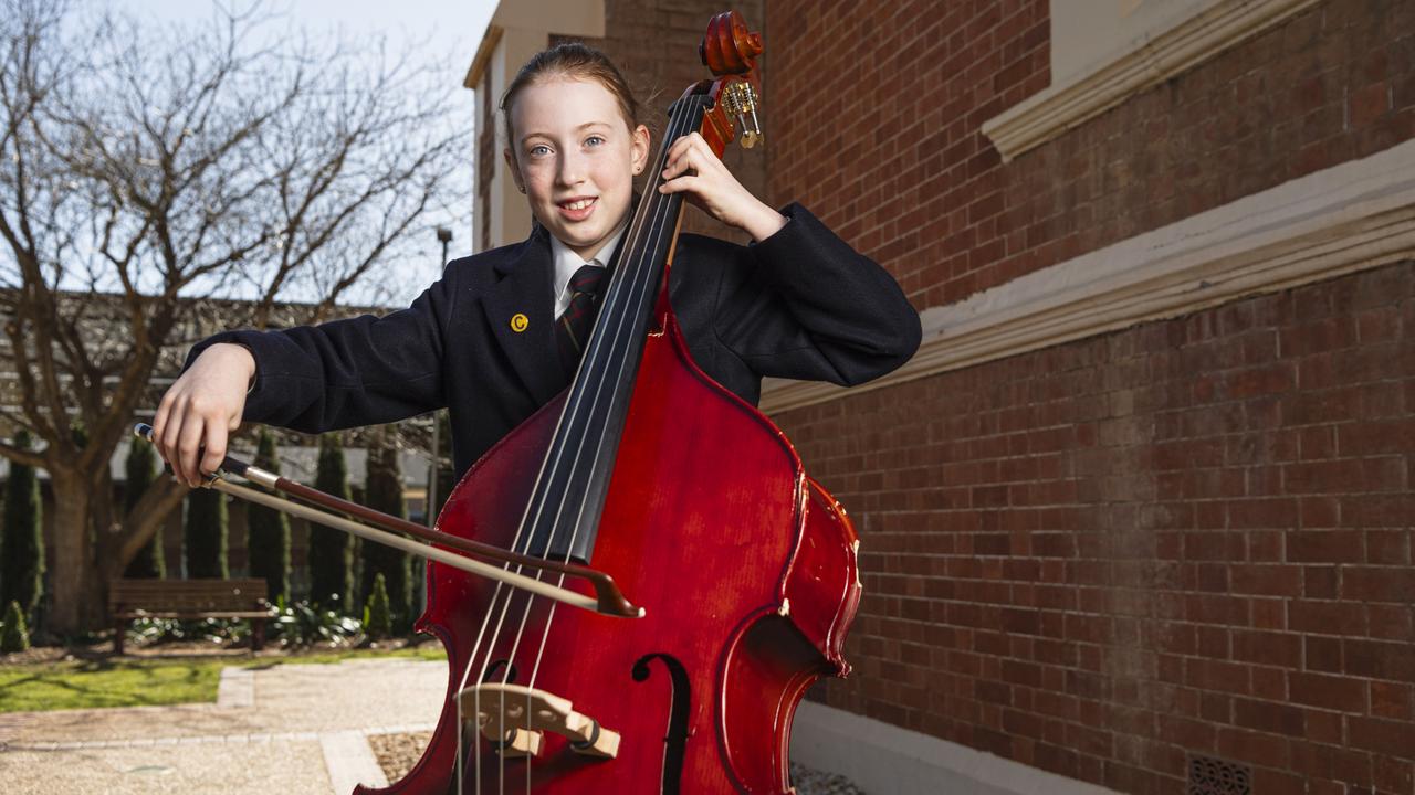
<instances>
[{"instance_id":1,"label":"girl's hand gripping the end of the bow","mask_svg":"<svg viewBox=\"0 0 1415 795\"><path fill-rule=\"evenodd\" d=\"M256 359L242 345L207 348L157 406L153 443L174 477L197 488L226 457L226 437L241 427ZM205 451L201 448L205 447ZM200 461L198 461L200 454Z\"/></svg>"}]
</instances>

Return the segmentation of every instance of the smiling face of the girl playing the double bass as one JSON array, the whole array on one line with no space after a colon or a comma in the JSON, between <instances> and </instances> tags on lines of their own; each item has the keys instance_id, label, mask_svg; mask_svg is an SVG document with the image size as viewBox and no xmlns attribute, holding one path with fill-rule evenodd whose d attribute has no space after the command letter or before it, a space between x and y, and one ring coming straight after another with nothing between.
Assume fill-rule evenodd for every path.
<instances>
[{"instance_id":1,"label":"smiling face of the girl playing the double bass","mask_svg":"<svg viewBox=\"0 0 1415 795\"><path fill-rule=\"evenodd\" d=\"M648 129L630 130L614 95L597 81L536 82L511 105L504 153L531 212L589 260L628 214L634 174L648 160Z\"/></svg>"}]
</instances>

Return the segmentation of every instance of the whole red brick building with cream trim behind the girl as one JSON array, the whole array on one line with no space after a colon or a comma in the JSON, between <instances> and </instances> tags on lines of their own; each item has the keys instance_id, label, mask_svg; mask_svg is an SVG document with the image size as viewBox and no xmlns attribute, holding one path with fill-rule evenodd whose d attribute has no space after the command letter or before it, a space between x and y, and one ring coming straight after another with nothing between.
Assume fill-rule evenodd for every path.
<instances>
[{"instance_id":1,"label":"whole red brick building with cream trim behind the girl","mask_svg":"<svg viewBox=\"0 0 1415 795\"><path fill-rule=\"evenodd\" d=\"M481 245L528 222L508 69L586 38L666 106L717 10L502 3ZM872 794L1415 792L1415 3L739 10L737 173L925 328L879 382L763 396L863 542L856 675L794 755Z\"/></svg>"}]
</instances>

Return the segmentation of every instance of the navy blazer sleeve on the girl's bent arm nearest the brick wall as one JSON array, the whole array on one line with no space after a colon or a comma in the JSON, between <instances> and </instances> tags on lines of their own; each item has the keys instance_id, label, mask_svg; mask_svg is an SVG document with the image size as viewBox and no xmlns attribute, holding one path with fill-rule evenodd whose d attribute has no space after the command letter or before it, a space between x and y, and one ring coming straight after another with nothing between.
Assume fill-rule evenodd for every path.
<instances>
[{"instance_id":1,"label":"navy blazer sleeve on the girl's bent arm nearest the brick wall","mask_svg":"<svg viewBox=\"0 0 1415 795\"><path fill-rule=\"evenodd\" d=\"M894 277L852 249L808 209L744 250L741 274L723 274L713 313L719 342L763 376L853 386L903 365L918 349L918 313Z\"/></svg>"}]
</instances>

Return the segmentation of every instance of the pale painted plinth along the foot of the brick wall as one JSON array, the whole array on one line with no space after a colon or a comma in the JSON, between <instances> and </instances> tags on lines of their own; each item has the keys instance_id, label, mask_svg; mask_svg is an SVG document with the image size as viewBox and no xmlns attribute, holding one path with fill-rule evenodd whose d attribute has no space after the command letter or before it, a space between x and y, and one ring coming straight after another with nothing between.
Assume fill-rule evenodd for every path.
<instances>
[{"instance_id":1,"label":"pale painted plinth along the foot of the brick wall","mask_svg":"<svg viewBox=\"0 0 1415 795\"><path fill-rule=\"evenodd\" d=\"M791 726L791 761L890 795L1116 795L966 745L801 702Z\"/></svg>"}]
</instances>

